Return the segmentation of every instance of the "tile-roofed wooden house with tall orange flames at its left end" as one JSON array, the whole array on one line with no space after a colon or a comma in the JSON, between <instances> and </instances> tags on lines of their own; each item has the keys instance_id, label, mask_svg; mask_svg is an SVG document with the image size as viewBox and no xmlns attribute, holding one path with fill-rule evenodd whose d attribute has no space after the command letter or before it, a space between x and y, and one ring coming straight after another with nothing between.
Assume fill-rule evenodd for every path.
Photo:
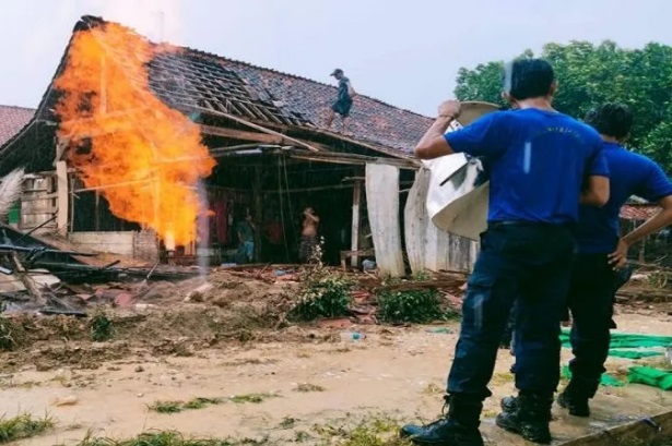
<instances>
[{"instance_id":1,"label":"tile-roofed wooden house with tall orange flames at its left end","mask_svg":"<svg viewBox=\"0 0 672 446\"><path fill-rule=\"evenodd\" d=\"M74 38L78 33L113 25L152 53L144 55L144 71L139 71L118 45L109 45L103 67L116 64L121 70L115 72L117 77L128 73L123 74L127 82L139 88L144 82L163 104L188 117L216 161L204 180L210 225L199 232L199 248L196 243L166 246L169 243L151 225L118 217L107 192L123 184L86 186L81 169L71 162L79 148L59 134L63 122L57 112L58 79L68 61L79 57ZM111 84L118 79L102 73L95 82L99 82L97 100L104 107L119 89ZM78 74L89 75L83 69ZM139 79L143 74L146 79ZM321 218L325 256L331 264L347 260L355 265L357 257L370 255L392 275L403 274L406 258L413 269L469 269L475 243L439 233L427 221L424 204L415 203L423 191L411 189L423 170L412 147L432 119L361 95L352 109L349 134L332 132L325 126L325 113L335 94L335 87L327 84L191 48L153 44L121 25L83 16L37 111L0 148L0 174L21 166L30 172L20 229L43 225L42 231L59 232L93 250L148 261L170 254L176 262L193 261L201 250L198 254L212 262L228 263L238 243L235 225L249 214L258 228L257 258L268 261L271 255L263 224L275 219L281 224L283 250L281 258L273 260L293 262L302 212L311 206ZM109 116L116 112L109 110ZM413 198L406 206L409 193ZM373 246L362 252L368 234ZM411 239L414 254L404 256ZM417 255L418 249L427 252Z\"/></svg>"}]
</instances>

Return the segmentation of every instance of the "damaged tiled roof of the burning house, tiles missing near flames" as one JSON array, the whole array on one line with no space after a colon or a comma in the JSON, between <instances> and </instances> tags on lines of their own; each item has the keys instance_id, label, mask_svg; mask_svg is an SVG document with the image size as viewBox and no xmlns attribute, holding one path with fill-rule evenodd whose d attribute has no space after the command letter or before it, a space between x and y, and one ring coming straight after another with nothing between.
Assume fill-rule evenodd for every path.
<instances>
[{"instance_id":1,"label":"damaged tiled roof of the burning house, tiles missing near flames","mask_svg":"<svg viewBox=\"0 0 672 446\"><path fill-rule=\"evenodd\" d=\"M76 23L73 33L107 23L110 22L85 15ZM148 41L133 29L126 29ZM337 98L337 86L192 48L151 45L158 51L148 63L150 87L168 106L192 119L199 113L208 114L208 111L214 114L223 112L281 132L285 129L304 130L335 136L326 129L323 121ZM54 79L64 69L69 48ZM117 62L123 64L122 60ZM57 121L52 111L57 95L58 92L49 85L39 107L44 112L36 117L37 120ZM358 95L349 120L350 135L335 137L405 158L412 156L412 148L432 122L425 116ZM15 156L17 154L0 153L0 164L9 164L8 158Z\"/></svg>"}]
</instances>

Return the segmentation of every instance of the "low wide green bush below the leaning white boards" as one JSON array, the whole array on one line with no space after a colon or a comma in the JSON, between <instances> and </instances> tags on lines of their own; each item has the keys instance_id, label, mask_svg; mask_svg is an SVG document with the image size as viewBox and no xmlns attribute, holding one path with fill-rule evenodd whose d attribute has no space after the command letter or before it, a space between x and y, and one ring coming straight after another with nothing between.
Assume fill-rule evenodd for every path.
<instances>
[{"instance_id":1,"label":"low wide green bush below the leaning white boards","mask_svg":"<svg viewBox=\"0 0 672 446\"><path fill-rule=\"evenodd\" d=\"M387 323L425 324L445 320L436 290L410 290L382 292L378 296L378 317Z\"/></svg>"}]
</instances>

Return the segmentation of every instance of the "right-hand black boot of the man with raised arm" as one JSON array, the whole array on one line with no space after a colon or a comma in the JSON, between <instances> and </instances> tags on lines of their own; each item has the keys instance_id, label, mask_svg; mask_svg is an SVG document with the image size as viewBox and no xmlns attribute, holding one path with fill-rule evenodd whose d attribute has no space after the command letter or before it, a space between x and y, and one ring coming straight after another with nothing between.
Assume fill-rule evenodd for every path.
<instances>
[{"instance_id":1,"label":"right-hand black boot of the man with raised arm","mask_svg":"<svg viewBox=\"0 0 672 446\"><path fill-rule=\"evenodd\" d=\"M505 411L497 415L497 425L527 441L541 445L551 444L549 424L553 395L520 394L515 401L517 407L514 411Z\"/></svg>"}]
</instances>

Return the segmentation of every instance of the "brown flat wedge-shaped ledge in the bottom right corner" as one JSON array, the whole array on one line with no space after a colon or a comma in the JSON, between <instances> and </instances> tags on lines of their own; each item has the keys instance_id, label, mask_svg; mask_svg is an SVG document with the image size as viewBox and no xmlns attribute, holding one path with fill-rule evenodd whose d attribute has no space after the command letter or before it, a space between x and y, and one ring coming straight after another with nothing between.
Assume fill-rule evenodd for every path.
<instances>
[{"instance_id":1,"label":"brown flat wedge-shaped ledge in the bottom right corner","mask_svg":"<svg viewBox=\"0 0 672 446\"><path fill-rule=\"evenodd\" d=\"M652 445L672 432L672 410L565 442L563 446Z\"/></svg>"}]
</instances>

